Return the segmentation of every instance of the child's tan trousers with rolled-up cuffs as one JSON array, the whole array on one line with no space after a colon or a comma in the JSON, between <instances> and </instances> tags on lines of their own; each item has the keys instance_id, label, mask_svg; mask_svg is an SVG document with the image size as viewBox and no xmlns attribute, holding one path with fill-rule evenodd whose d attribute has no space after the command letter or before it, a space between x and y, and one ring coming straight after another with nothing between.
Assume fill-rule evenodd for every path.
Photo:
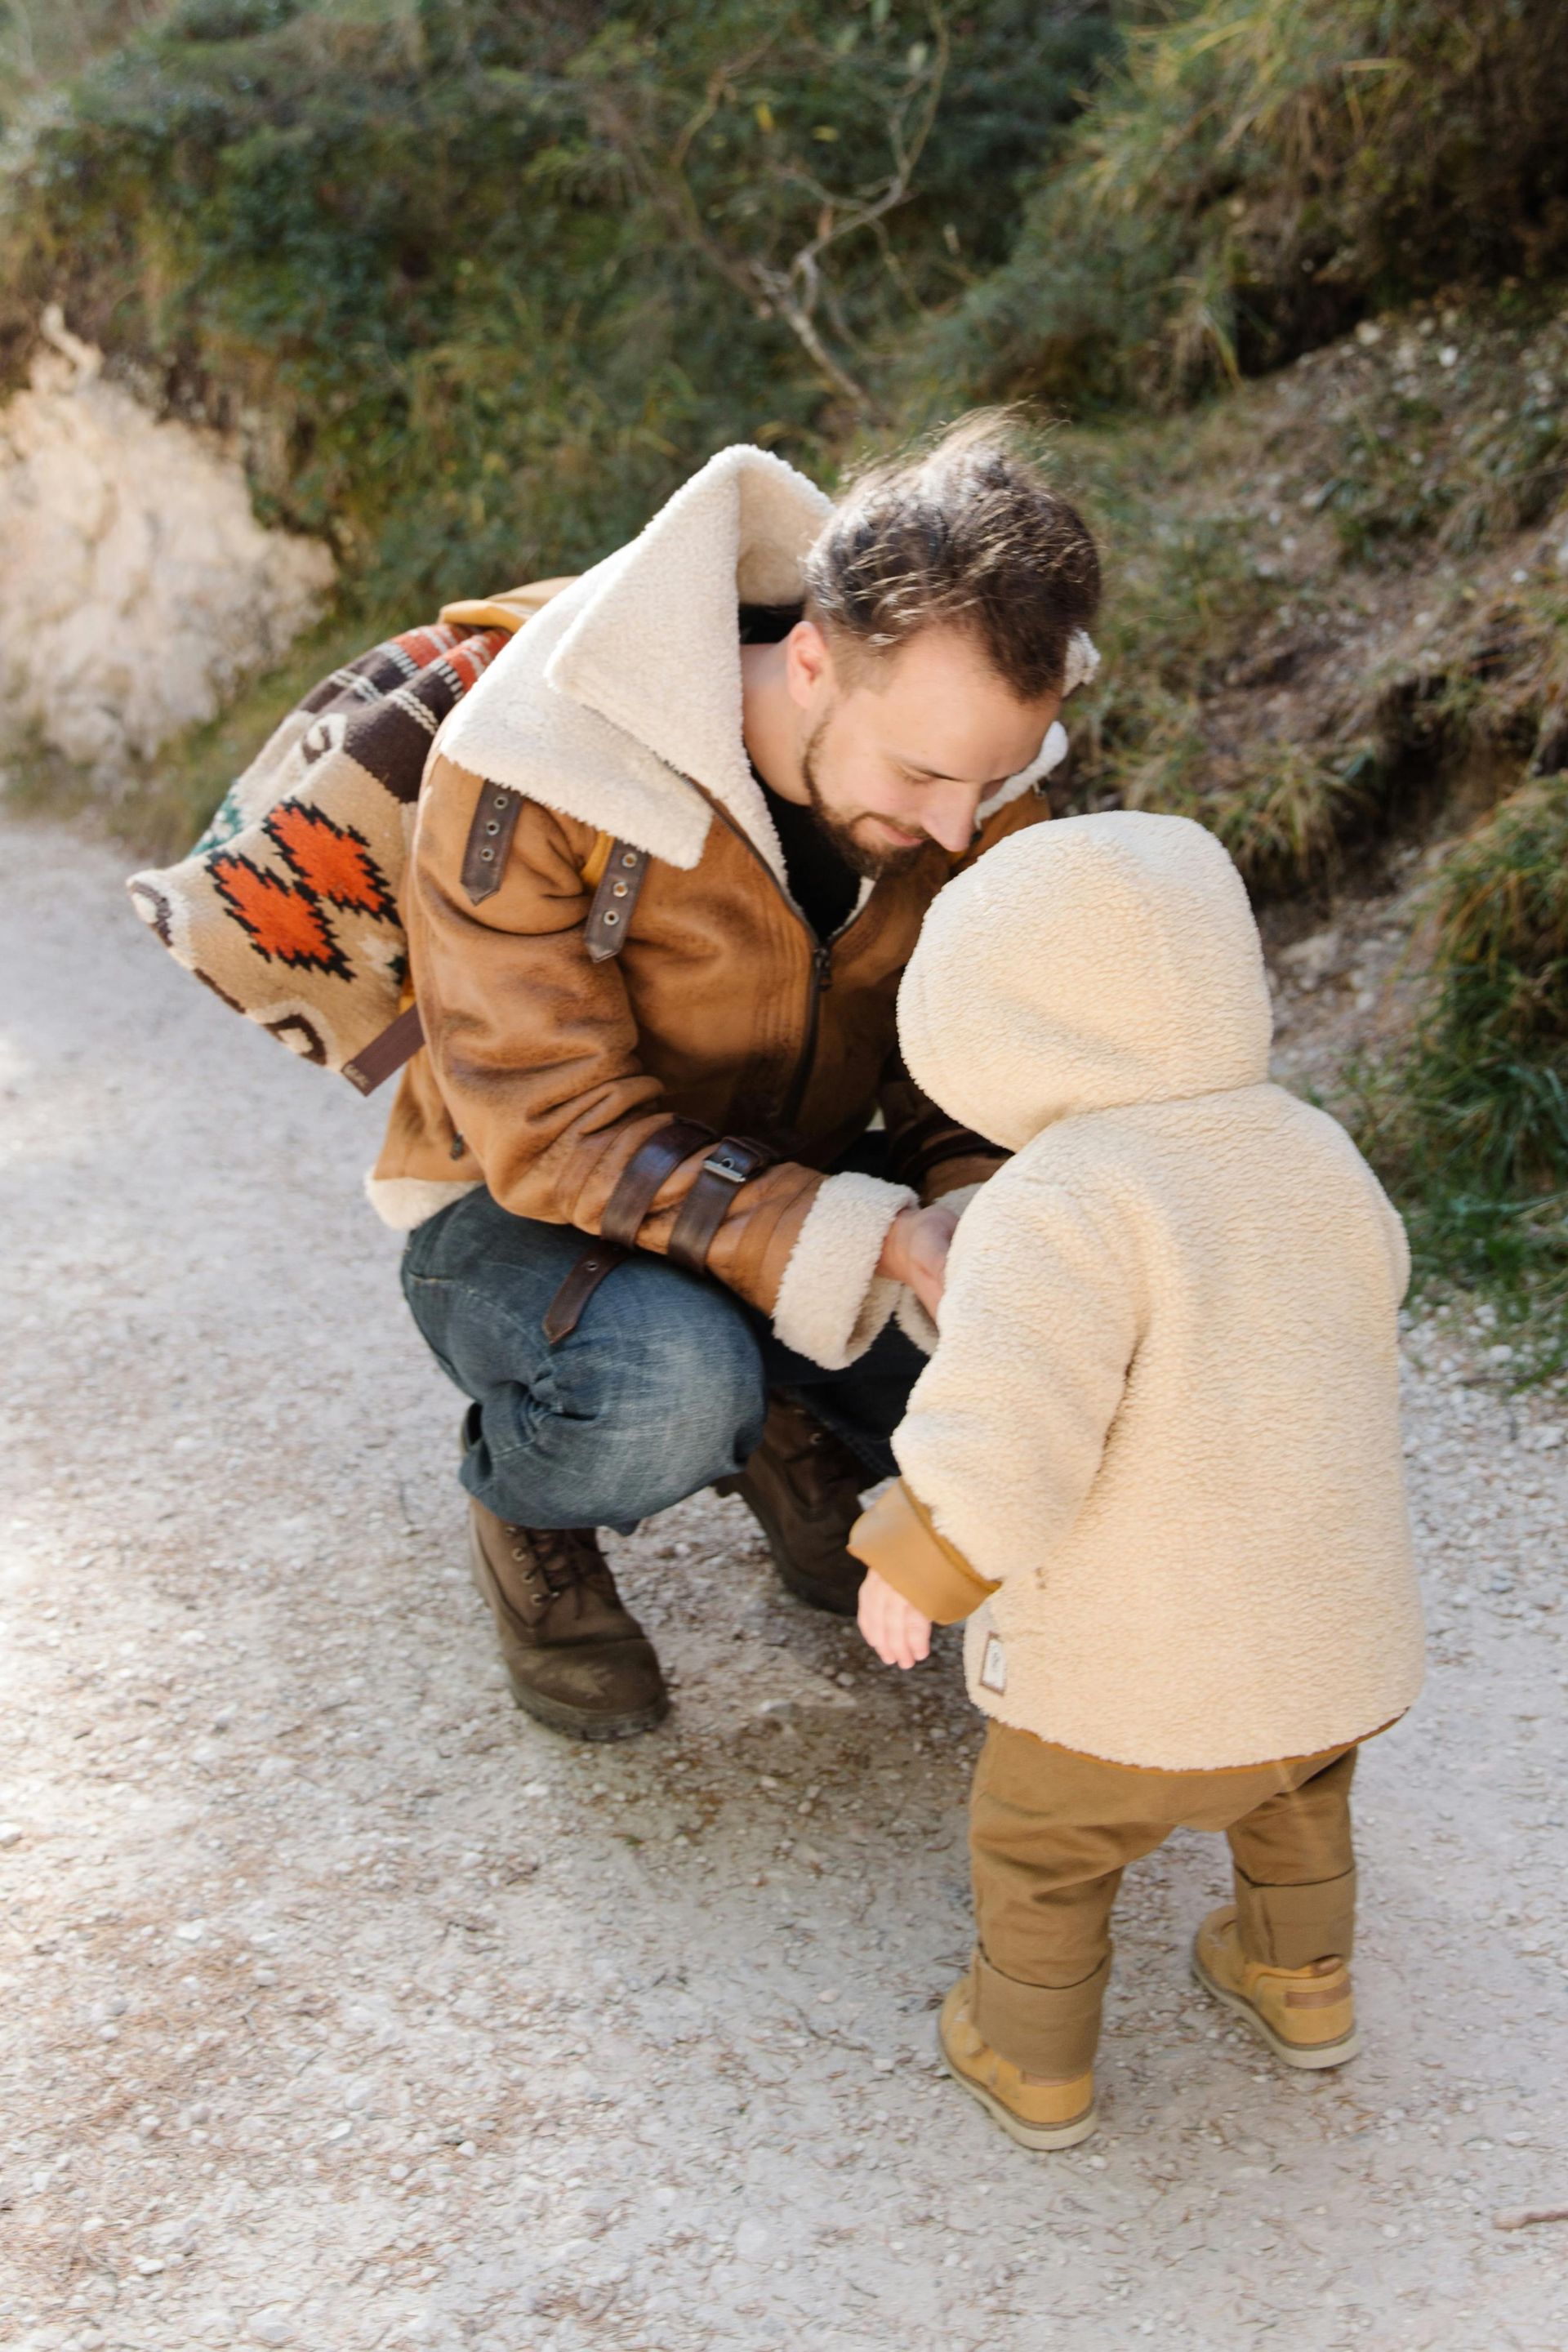
<instances>
[{"instance_id":1,"label":"child's tan trousers with rolled-up cuffs","mask_svg":"<svg viewBox=\"0 0 1568 2352\"><path fill-rule=\"evenodd\" d=\"M973 2018L1030 2074L1081 2074L1100 2039L1121 1872L1171 1830L1225 1830L1241 1947L1276 1969L1349 1959L1354 1748L1239 1771L1135 1771L992 1724L969 1799Z\"/></svg>"}]
</instances>

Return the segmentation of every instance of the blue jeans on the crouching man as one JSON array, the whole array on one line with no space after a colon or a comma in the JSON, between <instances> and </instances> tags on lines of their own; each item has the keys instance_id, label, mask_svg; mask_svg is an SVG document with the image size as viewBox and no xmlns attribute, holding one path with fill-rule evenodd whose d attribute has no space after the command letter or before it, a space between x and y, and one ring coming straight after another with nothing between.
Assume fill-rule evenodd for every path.
<instances>
[{"instance_id":1,"label":"blue jeans on the crouching man","mask_svg":"<svg viewBox=\"0 0 1568 2352\"><path fill-rule=\"evenodd\" d=\"M465 1192L418 1225L402 1289L442 1371L473 1397L463 1486L517 1526L614 1526L741 1470L769 1388L792 1388L865 1463L893 1477L889 1437L926 1359L896 1327L846 1371L785 1348L733 1291L635 1251L555 1348L543 1315L583 1247L571 1225Z\"/></svg>"}]
</instances>

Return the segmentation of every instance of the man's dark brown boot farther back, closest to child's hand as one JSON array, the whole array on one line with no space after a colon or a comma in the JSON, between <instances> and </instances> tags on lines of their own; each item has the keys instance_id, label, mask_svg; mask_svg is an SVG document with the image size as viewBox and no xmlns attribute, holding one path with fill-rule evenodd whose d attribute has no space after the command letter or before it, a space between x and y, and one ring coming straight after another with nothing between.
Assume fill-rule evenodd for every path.
<instances>
[{"instance_id":1,"label":"man's dark brown boot farther back, closest to child's hand","mask_svg":"<svg viewBox=\"0 0 1568 2352\"><path fill-rule=\"evenodd\" d=\"M872 1472L785 1388L769 1397L762 1444L745 1470L717 1482L738 1494L769 1538L788 1590L811 1609L853 1616L865 1569L844 1550Z\"/></svg>"}]
</instances>

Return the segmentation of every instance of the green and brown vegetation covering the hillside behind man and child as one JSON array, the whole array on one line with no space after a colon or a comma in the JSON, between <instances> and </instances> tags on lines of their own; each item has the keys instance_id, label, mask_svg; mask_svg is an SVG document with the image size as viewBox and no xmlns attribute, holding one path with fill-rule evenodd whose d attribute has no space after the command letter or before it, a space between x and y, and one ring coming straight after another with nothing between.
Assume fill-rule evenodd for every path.
<instances>
[{"instance_id":1,"label":"green and brown vegetation covering the hillside behind man and child","mask_svg":"<svg viewBox=\"0 0 1568 2352\"><path fill-rule=\"evenodd\" d=\"M830 477L1044 400L1110 574L1077 802L1260 901L1427 844L1361 1131L1432 1254L1568 1301L1559 0L9 0L0 61L0 381L61 299L343 560L169 833L313 652L724 440Z\"/></svg>"}]
</instances>

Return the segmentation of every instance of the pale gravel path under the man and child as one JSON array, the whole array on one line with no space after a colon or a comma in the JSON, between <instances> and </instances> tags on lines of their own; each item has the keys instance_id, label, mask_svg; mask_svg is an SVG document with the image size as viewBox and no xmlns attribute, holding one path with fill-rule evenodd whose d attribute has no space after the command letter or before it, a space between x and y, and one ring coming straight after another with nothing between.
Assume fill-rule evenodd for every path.
<instances>
[{"instance_id":1,"label":"pale gravel path under the man and child","mask_svg":"<svg viewBox=\"0 0 1568 2352\"><path fill-rule=\"evenodd\" d=\"M1107 2126L1027 2157L931 2060L952 1642L900 1684L698 1498L618 1548L668 1729L520 1717L378 1105L183 978L113 856L0 847L0 2345L1561 2352L1568 2225L1493 2227L1568 2201L1547 1406L1413 1334L1436 1663L1363 1762L1363 2060L1281 2077L1192 1990L1225 1867L1178 1837Z\"/></svg>"}]
</instances>

